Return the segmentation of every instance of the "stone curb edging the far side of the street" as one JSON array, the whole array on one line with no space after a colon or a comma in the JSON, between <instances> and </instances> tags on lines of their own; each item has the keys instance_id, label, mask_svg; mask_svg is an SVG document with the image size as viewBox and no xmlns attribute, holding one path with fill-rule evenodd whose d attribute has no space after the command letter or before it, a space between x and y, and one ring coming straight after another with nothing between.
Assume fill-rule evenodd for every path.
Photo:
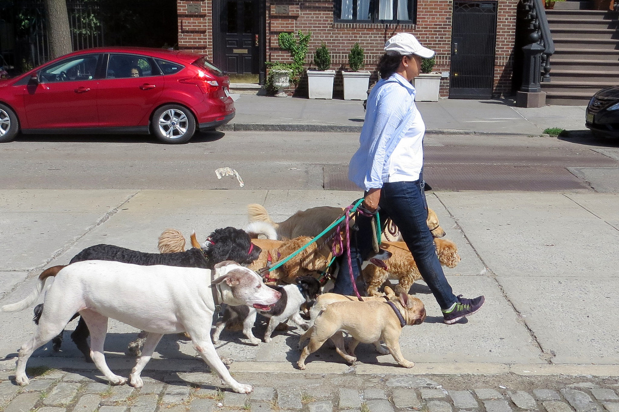
<instances>
[{"instance_id":1,"label":"stone curb edging the far side of the street","mask_svg":"<svg viewBox=\"0 0 619 412\"><path fill-rule=\"evenodd\" d=\"M327 133L360 133L362 126L303 124L303 123L229 123L217 127L219 132L327 132ZM537 136L538 133L524 132L478 132L476 130L459 130L451 128L428 128L426 135L488 135L488 136Z\"/></svg>"}]
</instances>

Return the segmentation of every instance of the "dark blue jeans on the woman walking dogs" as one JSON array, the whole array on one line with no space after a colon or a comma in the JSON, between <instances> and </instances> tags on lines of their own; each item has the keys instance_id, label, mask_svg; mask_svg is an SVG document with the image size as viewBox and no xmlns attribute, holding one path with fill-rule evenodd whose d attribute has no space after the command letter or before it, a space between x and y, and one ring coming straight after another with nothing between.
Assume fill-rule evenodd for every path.
<instances>
[{"instance_id":1,"label":"dark blue jeans on the woman walking dogs","mask_svg":"<svg viewBox=\"0 0 619 412\"><path fill-rule=\"evenodd\" d=\"M381 227L387 217L400 229L404 242L409 247L420 274L432 291L441 309L448 309L457 299L445 278L441 263L436 256L436 247L428 229L428 205L423 193L423 180L415 182L384 183L379 202ZM368 256L372 250L371 217L357 215L357 231L350 236L350 257L353 275L357 279L361 272L362 256ZM352 295L352 282L346 254L340 258L340 271L335 279L334 293Z\"/></svg>"}]
</instances>

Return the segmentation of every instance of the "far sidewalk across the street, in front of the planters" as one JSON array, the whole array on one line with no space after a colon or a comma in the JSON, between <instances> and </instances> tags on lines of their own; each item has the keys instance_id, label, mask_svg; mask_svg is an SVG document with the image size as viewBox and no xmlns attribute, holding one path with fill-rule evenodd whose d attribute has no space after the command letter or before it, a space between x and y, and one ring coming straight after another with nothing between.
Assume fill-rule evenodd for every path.
<instances>
[{"instance_id":1,"label":"far sidewalk across the street, in front of the planters","mask_svg":"<svg viewBox=\"0 0 619 412\"><path fill-rule=\"evenodd\" d=\"M236 116L221 130L359 132L361 101L233 95ZM508 99L418 102L428 134L539 135L548 127L586 130L585 106L515 107Z\"/></svg>"}]
</instances>

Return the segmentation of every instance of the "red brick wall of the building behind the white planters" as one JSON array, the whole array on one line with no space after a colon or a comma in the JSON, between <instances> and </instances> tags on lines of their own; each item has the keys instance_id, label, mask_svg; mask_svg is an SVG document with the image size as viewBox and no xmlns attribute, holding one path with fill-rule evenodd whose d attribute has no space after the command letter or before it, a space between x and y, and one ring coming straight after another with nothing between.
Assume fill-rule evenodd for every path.
<instances>
[{"instance_id":1,"label":"red brick wall of the building behind the white planters","mask_svg":"<svg viewBox=\"0 0 619 412\"><path fill-rule=\"evenodd\" d=\"M511 92L511 71L516 31L516 6L518 0L498 0L498 19L495 58L495 96ZM212 59L212 0L177 0L179 19L179 47L206 54ZM188 4L199 4L199 14L190 13ZM283 13L282 8L288 6ZM194 6L195 7L195 6ZM399 32L413 33L421 43L436 51L434 71L448 72L451 64L451 15L452 2L418 0L416 25L384 25L334 23L332 1L266 0L266 57L267 61L291 62L290 53L279 49L277 35L282 32L303 33L311 31L308 67L313 66L313 55L322 42L331 53L331 69L347 69L348 53L358 42L365 51L365 70L373 72L376 62L383 54L384 42ZM339 78L341 78L339 76ZM341 79L335 79L336 95L341 88ZM441 96L449 93L449 79L441 80Z\"/></svg>"}]
</instances>

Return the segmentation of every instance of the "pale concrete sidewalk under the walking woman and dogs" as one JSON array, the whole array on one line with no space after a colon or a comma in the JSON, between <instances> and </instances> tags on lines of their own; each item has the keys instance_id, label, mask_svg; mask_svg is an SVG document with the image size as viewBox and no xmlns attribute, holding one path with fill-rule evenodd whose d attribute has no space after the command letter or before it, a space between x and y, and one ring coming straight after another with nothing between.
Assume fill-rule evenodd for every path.
<instances>
[{"instance_id":1,"label":"pale concrete sidewalk under the walking woman and dogs","mask_svg":"<svg viewBox=\"0 0 619 412\"><path fill-rule=\"evenodd\" d=\"M261 203L275 221L298 209L344 206L356 191L288 190L0 190L0 305L31 292L41 269L66 264L98 243L157 251L163 229L201 240L227 225L245 227L246 205ZM423 282L413 292L428 311L426 322L405 327L400 344L413 369L391 355L360 345L352 368L329 348L308 358L308 373L357 374L567 374L619 376L617 254L619 196L610 193L436 192L428 203L462 261L446 275L456 294L486 296L480 313L447 326ZM17 348L32 335L31 309L0 313L0 369L11 369ZM74 327L75 322L69 325ZM257 324L260 336L264 324ZM106 352L112 368L136 330L111 321ZM220 355L233 371L300 373L294 365L299 330L277 332L271 343L248 344L240 332L222 334ZM167 335L147 369L202 368L189 342ZM171 361L176 359L175 361ZM48 344L30 366L90 369L67 338L63 351Z\"/></svg>"}]
</instances>

